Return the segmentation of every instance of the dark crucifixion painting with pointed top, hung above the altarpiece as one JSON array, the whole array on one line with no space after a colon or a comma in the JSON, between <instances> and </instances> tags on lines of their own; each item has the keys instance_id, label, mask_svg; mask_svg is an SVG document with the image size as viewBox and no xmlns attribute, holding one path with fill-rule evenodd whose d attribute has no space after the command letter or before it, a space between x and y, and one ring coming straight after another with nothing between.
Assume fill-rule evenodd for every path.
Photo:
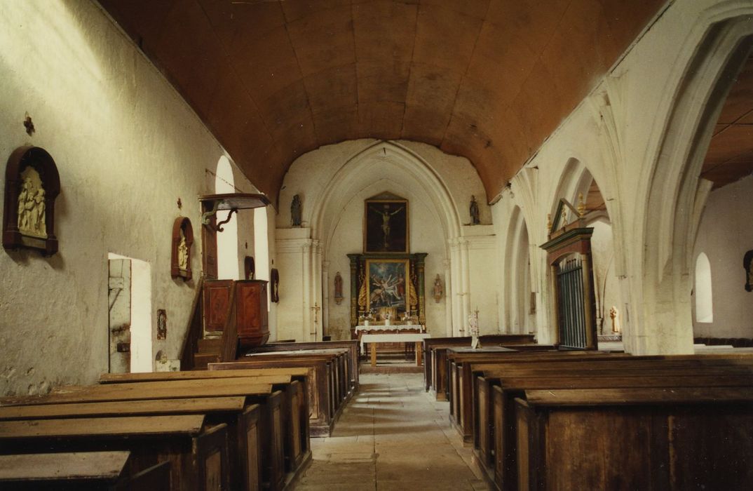
<instances>
[{"instance_id":1,"label":"dark crucifixion painting with pointed top, hung above the altarpiece","mask_svg":"<svg viewBox=\"0 0 753 491\"><path fill-rule=\"evenodd\" d=\"M364 203L364 252L408 252L408 200Z\"/></svg>"}]
</instances>

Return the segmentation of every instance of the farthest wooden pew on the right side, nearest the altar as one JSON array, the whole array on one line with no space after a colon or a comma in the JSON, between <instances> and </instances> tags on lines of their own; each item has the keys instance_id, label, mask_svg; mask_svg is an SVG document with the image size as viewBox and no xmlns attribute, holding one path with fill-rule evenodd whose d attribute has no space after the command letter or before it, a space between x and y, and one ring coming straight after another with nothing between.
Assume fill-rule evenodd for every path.
<instances>
[{"instance_id":1,"label":"farthest wooden pew on the right side, nearest the altar","mask_svg":"<svg viewBox=\"0 0 753 491\"><path fill-rule=\"evenodd\" d=\"M489 334L479 337L481 346L529 345L538 346L533 334ZM432 390L437 401L447 400L447 348L471 346L471 337L432 337L424 340L424 380L426 390ZM539 348L547 349L547 348ZM553 349L548 346L548 349Z\"/></svg>"}]
</instances>

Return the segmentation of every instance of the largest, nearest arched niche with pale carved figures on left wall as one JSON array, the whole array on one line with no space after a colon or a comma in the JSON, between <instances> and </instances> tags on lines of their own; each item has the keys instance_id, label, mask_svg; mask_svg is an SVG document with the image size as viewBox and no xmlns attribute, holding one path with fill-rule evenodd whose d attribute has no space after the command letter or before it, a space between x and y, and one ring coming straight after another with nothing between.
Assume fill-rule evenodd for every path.
<instances>
[{"instance_id":1,"label":"largest, nearest arched niche with pale carved figures on left wall","mask_svg":"<svg viewBox=\"0 0 753 491\"><path fill-rule=\"evenodd\" d=\"M59 193L60 177L50 154L38 147L17 148L5 168L3 247L55 254L55 198Z\"/></svg>"}]
</instances>

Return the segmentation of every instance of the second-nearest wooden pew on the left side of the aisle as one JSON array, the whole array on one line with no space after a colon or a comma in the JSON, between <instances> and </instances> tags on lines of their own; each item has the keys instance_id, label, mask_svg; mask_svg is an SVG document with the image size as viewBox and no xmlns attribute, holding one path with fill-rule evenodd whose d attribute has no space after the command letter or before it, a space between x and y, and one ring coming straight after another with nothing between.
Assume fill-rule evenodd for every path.
<instances>
[{"instance_id":1,"label":"second-nearest wooden pew on the left side of the aisle","mask_svg":"<svg viewBox=\"0 0 753 491\"><path fill-rule=\"evenodd\" d=\"M173 490L227 489L227 425L201 414L0 421L0 453L128 450L130 474L170 462Z\"/></svg>"}]
</instances>

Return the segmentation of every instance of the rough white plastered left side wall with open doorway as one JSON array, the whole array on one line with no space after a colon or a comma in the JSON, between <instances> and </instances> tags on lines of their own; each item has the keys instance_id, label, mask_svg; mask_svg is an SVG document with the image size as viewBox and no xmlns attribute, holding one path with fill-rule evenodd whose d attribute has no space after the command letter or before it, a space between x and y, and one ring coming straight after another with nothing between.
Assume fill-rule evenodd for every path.
<instances>
[{"instance_id":1,"label":"rough white plastered left side wall with open doorway","mask_svg":"<svg viewBox=\"0 0 753 491\"><path fill-rule=\"evenodd\" d=\"M108 370L108 252L150 264L151 357L178 358L201 272L197 195L214 192L223 149L94 2L2 2L0 46L0 155L46 149L62 188L58 254L0 252L0 394L93 383ZM236 186L252 188L238 172ZM194 225L191 282L169 275L179 215Z\"/></svg>"}]
</instances>

